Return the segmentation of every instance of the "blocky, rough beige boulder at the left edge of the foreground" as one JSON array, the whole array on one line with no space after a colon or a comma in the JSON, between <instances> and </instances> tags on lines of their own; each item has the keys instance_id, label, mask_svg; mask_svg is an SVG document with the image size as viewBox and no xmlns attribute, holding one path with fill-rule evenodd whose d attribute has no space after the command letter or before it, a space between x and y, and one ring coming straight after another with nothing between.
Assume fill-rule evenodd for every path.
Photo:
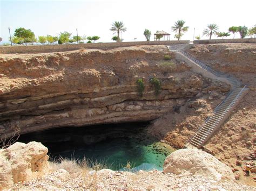
<instances>
[{"instance_id":1,"label":"blocky, rough beige boulder at the left edge of the foreground","mask_svg":"<svg viewBox=\"0 0 256 191\"><path fill-rule=\"evenodd\" d=\"M0 149L0 188L42 176L49 171L48 148L41 143L15 143Z\"/></svg>"}]
</instances>

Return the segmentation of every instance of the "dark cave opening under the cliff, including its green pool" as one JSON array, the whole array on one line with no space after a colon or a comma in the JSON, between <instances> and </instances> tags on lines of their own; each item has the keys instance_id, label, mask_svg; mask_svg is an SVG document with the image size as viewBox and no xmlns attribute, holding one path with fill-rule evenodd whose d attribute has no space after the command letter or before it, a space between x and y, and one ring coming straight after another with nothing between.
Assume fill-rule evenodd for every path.
<instances>
[{"instance_id":1,"label":"dark cave opening under the cliff, including its green pool","mask_svg":"<svg viewBox=\"0 0 256 191\"><path fill-rule=\"evenodd\" d=\"M113 170L163 169L173 150L150 136L150 122L101 124L79 128L62 127L21 135L18 142L41 142L48 147L50 160L61 158L104 164Z\"/></svg>"}]
</instances>

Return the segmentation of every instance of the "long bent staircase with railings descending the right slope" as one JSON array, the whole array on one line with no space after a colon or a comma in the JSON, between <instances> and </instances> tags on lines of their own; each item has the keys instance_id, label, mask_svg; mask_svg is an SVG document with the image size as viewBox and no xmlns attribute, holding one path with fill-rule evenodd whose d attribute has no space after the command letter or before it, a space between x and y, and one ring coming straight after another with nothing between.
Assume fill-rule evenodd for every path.
<instances>
[{"instance_id":1,"label":"long bent staircase with railings descending the right slope","mask_svg":"<svg viewBox=\"0 0 256 191\"><path fill-rule=\"evenodd\" d=\"M171 51L175 51L177 55L181 56L183 60L186 60L193 65L196 65L202 69L203 73L210 75L213 78L219 80L225 80L227 83L231 84L232 90L226 96L226 98L215 108L213 114L208 117L205 123L194 133L194 135L187 140L185 147L187 148L200 148L203 144L213 135L215 130L217 130L230 116L230 112L238 103L238 101L244 97L248 89L246 86L244 88L240 87L240 82L234 77L216 72L212 68L206 66L203 62L200 62L193 55L185 52L184 45L172 45L169 46Z\"/></svg>"}]
</instances>

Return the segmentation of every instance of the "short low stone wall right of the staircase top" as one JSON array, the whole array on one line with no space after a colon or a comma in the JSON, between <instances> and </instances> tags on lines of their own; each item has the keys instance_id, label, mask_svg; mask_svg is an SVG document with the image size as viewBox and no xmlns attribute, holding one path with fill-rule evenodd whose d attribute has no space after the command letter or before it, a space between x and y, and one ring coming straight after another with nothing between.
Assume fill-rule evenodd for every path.
<instances>
[{"instance_id":1,"label":"short low stone wall right of the staircase top","mask_svg":"<svg viewBox=\"0 0 256 191\"><path fill-rule=\"evenodd\" d=\"M217 44L217 43L256 43L255 38L244 39L213 39L213 40L194 40L194 44Z\"/></svg>"}]
</instances>

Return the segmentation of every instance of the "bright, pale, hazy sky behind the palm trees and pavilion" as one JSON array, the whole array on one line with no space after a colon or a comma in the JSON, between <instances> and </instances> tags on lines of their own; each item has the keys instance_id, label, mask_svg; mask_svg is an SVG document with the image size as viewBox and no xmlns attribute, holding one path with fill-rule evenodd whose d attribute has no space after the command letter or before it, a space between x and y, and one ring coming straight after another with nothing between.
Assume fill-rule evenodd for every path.
<instances>
[{"instance_id":1,"label":"bright, pale, hazy sky behind the palm trees and pavilion","mask_svg":"<svg viewBox=\"0 0 256 191\"><path fill-rule=\"evenodd\" d=\"M256 24L256 1L230 0L0 0L0 37L2 44L18 27L25 27L35 36L58 36L68 31L79 36L99 36L100 42L111 42L115 35L109 29L114 21L121 21L127 27L122 32L124 41L144 41L143 32L149 29L171 33L171 26L179 19L185 20L188 31L181 40L193 40L208 24L215 23L220 32L227 32L230 26L253 27ZM216 37L213 37L216 38ZM230 38L233 38L231 34ZM239 33L235 38L240 38Z\"/></svg>"}]
</instances>

